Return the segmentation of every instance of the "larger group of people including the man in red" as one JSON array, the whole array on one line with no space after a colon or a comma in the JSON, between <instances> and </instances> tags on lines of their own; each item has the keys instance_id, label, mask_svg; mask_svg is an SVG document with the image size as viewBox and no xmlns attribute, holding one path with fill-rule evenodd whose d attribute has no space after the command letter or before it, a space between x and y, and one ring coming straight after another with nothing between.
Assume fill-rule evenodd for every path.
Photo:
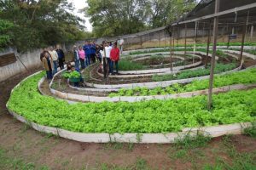
<instances>
[{"instance_id":1,"label":"larger group of people including the man in red","mask_svg":"<svg viewBox=\"0 0 256 170\"><path fill-rule=\"evenodd\" d=\"M98 60L102 64L104 73L108 71L109 74L113 74L113 65L115 65L116 73L118 74L118 62L119 62L119 48L117 42L102 42L102 44L96 44L96 42L84 42L84 46L73 46L73 56L75 61L75 68L79 67L84 70L85 67ZM107 68L108 67L108 68Z\"/></svg>"}]
</instances>

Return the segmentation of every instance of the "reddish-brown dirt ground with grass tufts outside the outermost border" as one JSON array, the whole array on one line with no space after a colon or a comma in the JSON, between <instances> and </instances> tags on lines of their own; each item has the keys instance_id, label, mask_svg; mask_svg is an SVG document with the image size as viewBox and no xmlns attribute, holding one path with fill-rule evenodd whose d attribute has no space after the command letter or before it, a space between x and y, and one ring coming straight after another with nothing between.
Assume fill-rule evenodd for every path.
<instances>
[{"instance_id":1,"label":"reddish-brown dirt ground with grass tufts outside the outermost border","mask_svg":"<svg viewBox=\"0 0 256 170\"><path fill-rule=\"evenodd\" d=\"M17 159L34 169L200 169L218 163L218 159L237 161L237 156L230 155L230 146L238 154L256 156L256 139L242 135L212 139L204 147L184 150L174 144L85 144L38 133L9 116L5 108L11 89L28 75L0 83L0 169L21 169Z\"/></svg>"}]
</instances>

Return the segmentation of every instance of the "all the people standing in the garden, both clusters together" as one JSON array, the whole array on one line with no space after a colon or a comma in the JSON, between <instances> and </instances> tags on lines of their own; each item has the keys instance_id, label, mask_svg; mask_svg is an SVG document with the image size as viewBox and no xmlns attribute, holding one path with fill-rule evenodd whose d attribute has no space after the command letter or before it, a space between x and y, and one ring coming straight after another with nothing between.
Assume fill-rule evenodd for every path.
<instances>
[{"instance_id":1,"label":"all the people standing in the garden, both clusters together","mask_svg":"<svg viewBox=\"0 0 256 170\"><path fill-rule=\"evenodd\" d=\"M85 67L96 63L98 60L101 63L104 77L107 77L107 74L114 74L113 65L115 65L115 73L118 74L119 55L120 50L117 42L104 41L102 44L96 44L96 42L86 41L79 48L73 46L74 69L77 71L84 70ZM57 45L56 48L44 48L40 54L40 59L49 80L53 78L58 67L61 70L64 69L65 54L60 45Z\"/></svg>"}]
</instances>

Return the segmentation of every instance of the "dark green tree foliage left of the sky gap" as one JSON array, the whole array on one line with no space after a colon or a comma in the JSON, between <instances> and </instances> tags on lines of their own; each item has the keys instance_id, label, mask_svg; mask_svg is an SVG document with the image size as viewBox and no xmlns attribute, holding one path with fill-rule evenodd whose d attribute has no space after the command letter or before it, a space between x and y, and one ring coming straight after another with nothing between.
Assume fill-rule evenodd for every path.
<instances>
[{"instance_id":1,"label":"dark green tree foliage left of the sky gap","mask_svg":"<svg viewBox=\"0 0 256 170\"><path fill-rule=\"evenodd\" d=\"M67 0L0 0L0 18L14 23L12 45L20 51L84 36L84 20L71 13Z\"/></svg>"}]
</instances>

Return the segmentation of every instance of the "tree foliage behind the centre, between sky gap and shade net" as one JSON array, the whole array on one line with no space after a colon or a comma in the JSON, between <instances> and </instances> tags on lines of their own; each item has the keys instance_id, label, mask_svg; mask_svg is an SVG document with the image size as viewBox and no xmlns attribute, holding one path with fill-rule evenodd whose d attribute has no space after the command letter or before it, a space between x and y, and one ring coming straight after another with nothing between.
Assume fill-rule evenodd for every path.
<instances>
[{"instance_id":1,"label":"tree foliage behind the centre, between sky gap and shade net","mask_svg":"<svg viewBox=\"0 0 256 170\"><path fill-rule=\"evenodd\" d=\"M88 0L84 8L96 37L166 26L195 7L195 0Z\"/></svg>"}]
</instances>

